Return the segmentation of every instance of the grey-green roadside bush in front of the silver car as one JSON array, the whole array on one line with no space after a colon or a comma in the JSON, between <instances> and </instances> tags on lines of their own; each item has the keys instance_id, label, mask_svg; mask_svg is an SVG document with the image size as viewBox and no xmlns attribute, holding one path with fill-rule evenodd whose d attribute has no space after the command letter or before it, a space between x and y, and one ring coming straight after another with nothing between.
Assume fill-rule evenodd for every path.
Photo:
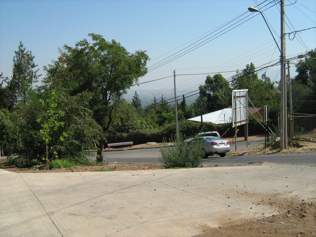
<instances>
[{"instance_id":1,"label":"grey-green roadside bush in front of the silver car","mask_svg":"<svg viewBox=\"0 0 316 237\"><path fill-rule=\"evenodd\" d=\"M165 168L193 168L200 167L205 150L202 142L198 139L190 142L190 145L183 142L183 136L172 136L169 142L173 146L169 146L166 139L160 144L161 157L160 162Z\"/></svg>"}]
</instances>

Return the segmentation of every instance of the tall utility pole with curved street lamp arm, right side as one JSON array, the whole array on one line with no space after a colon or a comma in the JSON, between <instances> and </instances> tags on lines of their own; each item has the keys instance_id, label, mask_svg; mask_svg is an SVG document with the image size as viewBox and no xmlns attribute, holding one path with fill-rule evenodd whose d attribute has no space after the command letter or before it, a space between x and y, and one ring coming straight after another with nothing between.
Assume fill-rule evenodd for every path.
<instances>
[{"instance_id":1,"label":"tall utility pole with curved street lamp arm, right side","mask_svg":"<svg viewBox=\"0 0 316 237\"><path fill-rule=\"evenodd\" d=\"M254 7L248 8L250 12L259 12L265 24L267 25L274 42L276 39L274 38L270 27L267 21L264 18L262 12ZM281 80L280 80L280 90L281 90L281 101L280 101L280 150L288 148L288 133L287 133L287 111L286 111L286 67L285 67L285 28L284 28L284 0L281 0L281 49L276 42L276 46L278 47L281 53Z\"/></svg>"}]
</instances>

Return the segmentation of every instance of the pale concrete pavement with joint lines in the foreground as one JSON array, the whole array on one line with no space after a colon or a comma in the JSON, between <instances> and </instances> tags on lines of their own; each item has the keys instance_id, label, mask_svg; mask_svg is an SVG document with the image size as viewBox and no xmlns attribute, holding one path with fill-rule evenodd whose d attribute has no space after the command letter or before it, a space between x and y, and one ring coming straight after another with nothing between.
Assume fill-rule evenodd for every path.
<instances>
[{"instance_id":1,"label":"pale concrete pavement with joint lines in the foreground","mask_svg":"<svg viewBox=\"0 0 316 237\"><path fill-rule=\"evenodd\" d=\"M316 167L82 173L0 170L0 236L193 236L278 213L258 200L315 201ZM264 213L264 214L263 214Z\"/></svg>"}]
</instances>

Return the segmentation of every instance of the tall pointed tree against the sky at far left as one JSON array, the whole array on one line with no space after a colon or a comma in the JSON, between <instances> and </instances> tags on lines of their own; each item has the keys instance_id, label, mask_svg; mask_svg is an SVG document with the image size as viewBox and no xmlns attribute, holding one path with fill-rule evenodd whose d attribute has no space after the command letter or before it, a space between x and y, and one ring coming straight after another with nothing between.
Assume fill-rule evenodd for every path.
<instances>
[{"instance_id":1,"label":"tall pointed tree against the sky at far left","mask_svg":"<svg viewBox=\"0 0 316 237\"><path fill-rule=\"evenodd\" d=\"M27 96L32 90L32 84L38 82L41 75L37 75L39 69L35 69L38 64L33 62L34 56L20 41L20 45L13 57L12 79L8 80L8 87L15 94L17 99L27 103Z\"/></svg>"}]
</instances>

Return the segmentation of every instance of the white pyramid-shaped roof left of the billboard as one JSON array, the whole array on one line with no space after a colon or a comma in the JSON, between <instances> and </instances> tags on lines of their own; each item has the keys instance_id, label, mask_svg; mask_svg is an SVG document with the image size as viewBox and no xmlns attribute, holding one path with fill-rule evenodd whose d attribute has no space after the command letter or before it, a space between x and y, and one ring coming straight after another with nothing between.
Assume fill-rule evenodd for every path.
<instances>
[{"instance_id":1,"label":"white pyramid-shaped roof left of the billboard","mask_svg":"<svg viewBox=\"0 0 316 237\"><path fill-rule=\"evenodd\" d=\"M221 109L211 113L202 115L203 122L211 122L214 124L226 124L232 121L232 109ZM201 122L201 116L187 119L195 122Z\"/></svg>"}]
</instances>

